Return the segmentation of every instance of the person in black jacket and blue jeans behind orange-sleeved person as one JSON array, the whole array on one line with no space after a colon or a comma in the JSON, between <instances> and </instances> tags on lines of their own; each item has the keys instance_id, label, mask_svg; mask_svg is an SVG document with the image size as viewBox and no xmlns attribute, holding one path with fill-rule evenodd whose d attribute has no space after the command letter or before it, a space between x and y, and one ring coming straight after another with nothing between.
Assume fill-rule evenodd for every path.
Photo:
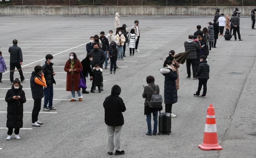
<instances>
[{"instance_id":1,"label":"person in black jacket and blue jeans behind orange-sleeved person","mask_svg":"<svg viewBox=\"0 0 256 158\"><path fill-rule=\"evenodd\" d=\"M53 84L56 85L56 82L54 80L54 71L53 71L53 56L51 54L47 54L45 57L46 61L44 65L42 66L42 71L44 73L44 78L46 81L46 86L44 86L44 107L43 111L50 111L50 110L56 110L52 106L52 100L53 100ZM47 107L49 103L49 106Z\"/></svg>"}]
</instances>

